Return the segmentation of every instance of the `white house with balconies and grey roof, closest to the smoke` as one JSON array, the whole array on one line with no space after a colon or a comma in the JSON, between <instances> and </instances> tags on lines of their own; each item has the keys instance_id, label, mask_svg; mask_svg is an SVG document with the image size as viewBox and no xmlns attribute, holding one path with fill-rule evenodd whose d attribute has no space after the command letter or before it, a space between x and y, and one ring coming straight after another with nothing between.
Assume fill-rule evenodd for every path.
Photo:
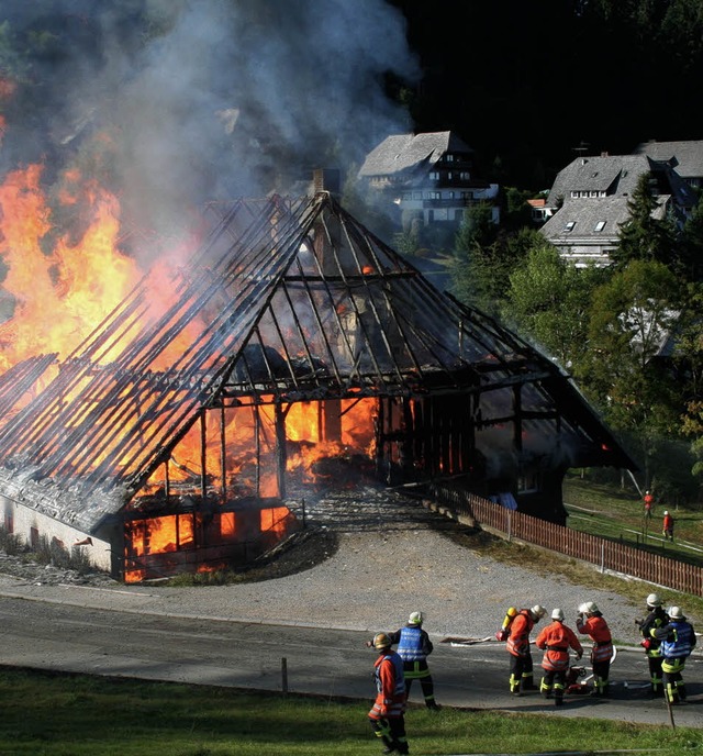
<instances>
[{"instance_id":1,"label":"white house with balconies and grey roof, closest to the smoke","mask_svg":"<svg viewBox=\"0 0 703 756\"><path fill-rule=\"evenodd\" d=\"M450 131L395 134L366 157L358 177L424 225L459 223L471 204L491 203L499 222L499 187L476 175L473 149Z\"/></svg>"}]
</instances>

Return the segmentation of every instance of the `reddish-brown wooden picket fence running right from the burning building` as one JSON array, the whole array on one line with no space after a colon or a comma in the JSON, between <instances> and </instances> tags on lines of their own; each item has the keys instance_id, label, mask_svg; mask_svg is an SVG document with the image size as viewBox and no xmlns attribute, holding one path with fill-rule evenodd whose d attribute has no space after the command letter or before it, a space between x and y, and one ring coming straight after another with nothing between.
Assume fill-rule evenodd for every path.
<instances>
[{"instance_id":1,"label":"reddish-brown wooden picket fence running right from the burning building","mask_svg":"<svg viewBox=\"0 0 703 756\"><path fill-rule=\"evenodd\" d=\"M613 570L671 590L703 596L703 567L687 565L589 533L579 533L565 525L505 509L468 491L435 485L431 487L431 492L437 502L509 541L516 538L590 562L602 571Z\"/></svg>"}]
</instances>

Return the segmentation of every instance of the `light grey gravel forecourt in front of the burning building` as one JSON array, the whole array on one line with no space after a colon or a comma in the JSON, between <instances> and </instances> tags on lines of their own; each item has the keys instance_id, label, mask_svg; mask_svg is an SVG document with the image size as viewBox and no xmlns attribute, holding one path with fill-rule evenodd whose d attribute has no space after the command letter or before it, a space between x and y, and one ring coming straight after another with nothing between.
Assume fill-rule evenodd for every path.
<instances>
[{"instance_id":1,"label":"light grey gravel forecourt in front of the burning building","mask_svg":"<svg viewBox=\"0 0 703 756\"><path fill-rule=\"evenodd\" d=\"M420 609L431 635L481 638L493 636L510 605L561 607L573 626L577 607L591 600L616 637L637 642L634 619L641 610L618 594L465 548L446 535L455 523L414 499L372 488L361 499L352 505L345 497L327 498L310 512L313 522L336 530L333 556L298 575L227 586L227 608L250 616L255 607L260 620L370 631L397 630Z\"/></svg>"}]
</instances>

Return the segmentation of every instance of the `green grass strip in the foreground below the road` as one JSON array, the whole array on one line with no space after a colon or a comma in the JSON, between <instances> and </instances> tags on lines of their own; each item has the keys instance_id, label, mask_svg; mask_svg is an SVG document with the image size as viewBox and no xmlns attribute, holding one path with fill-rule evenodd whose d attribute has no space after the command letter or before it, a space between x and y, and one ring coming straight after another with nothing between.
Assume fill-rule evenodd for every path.
<instances>
[{"instance_id":1,"label":"green grass strip in the foreground below the road","mask_svg":"<svg viewBox=\"0 0 703 756\"><path fill-rule=\"evenodd\" d=\"M0 669L0 754L13 756L364 756L379 743L369 701ZM703 749L703 730L411 708L414 754Z\"/></svg>"}]
</instances>

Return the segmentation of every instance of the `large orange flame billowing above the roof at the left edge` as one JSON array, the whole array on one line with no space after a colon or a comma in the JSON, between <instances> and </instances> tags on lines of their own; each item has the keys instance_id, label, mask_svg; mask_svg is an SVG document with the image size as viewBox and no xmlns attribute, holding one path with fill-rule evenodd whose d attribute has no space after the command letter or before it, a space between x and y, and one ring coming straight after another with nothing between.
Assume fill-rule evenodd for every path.
<instances>
[{"instance_id":1,"label":"large orange flame billowing above the roof at the left edge","mask_svg":"<svg viewBox=\"0 0 703 756\"><path fill-rule=\"evenodd\" d=\"M42 173L41 165L31 165L9 174L0 186L0 256L7 267L1 370L38 354L66 357L142 275L118 245L116 198L76 171L65 176L58 202L80 200L88 223L79 240L59 234L46 248L55 229Z\"/></svg>"}]
</instances>

